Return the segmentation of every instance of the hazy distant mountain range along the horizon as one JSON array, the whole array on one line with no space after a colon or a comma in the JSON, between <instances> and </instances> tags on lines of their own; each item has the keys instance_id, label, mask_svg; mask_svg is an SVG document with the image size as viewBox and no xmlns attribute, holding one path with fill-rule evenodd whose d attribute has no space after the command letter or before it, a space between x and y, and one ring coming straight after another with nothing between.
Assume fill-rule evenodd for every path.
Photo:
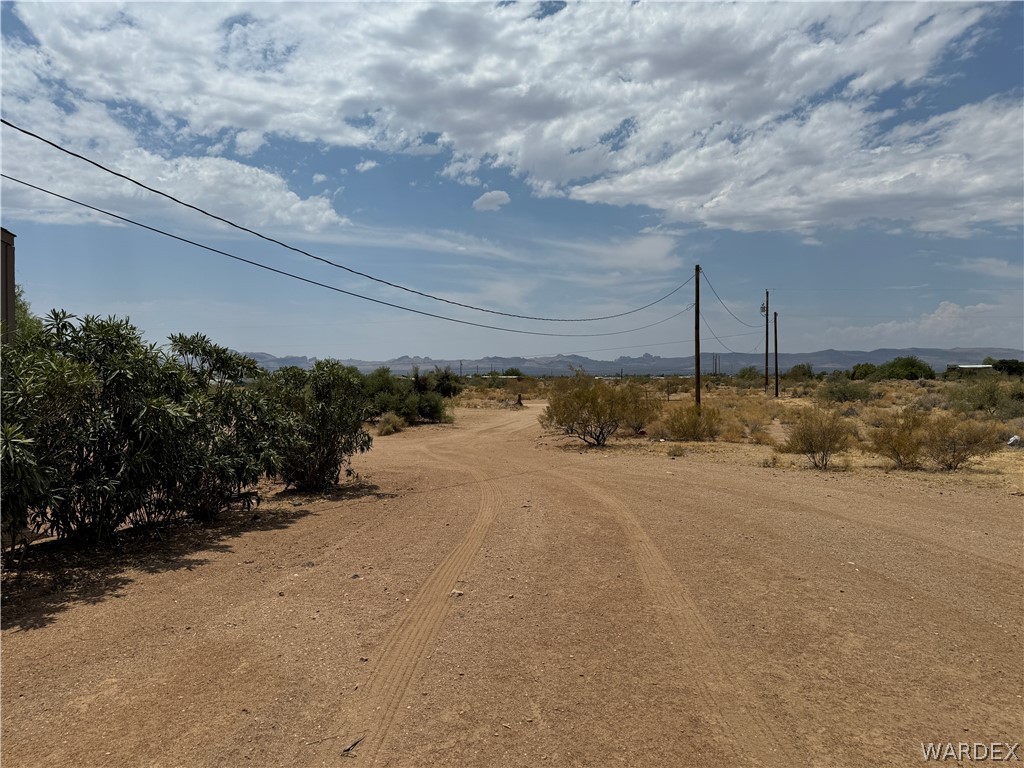
<instances>
[{"instance_id":1,"label":"hazy distant mountain range along the horizon","mask_svg":"<svg viewBox=\"0 0 1024 768\"><path fill-rule=\"evenodd\" d=\"M315 357L289 356L274 357L265 352L246 352L267 371L275 371L285 366L312 368ZM952 349L930 349L910 347L909 349L873 349L869 352L851 349L824 349L818 352L785 352L778 355L779 371L788 371L794 366L809 362L816 372L848 370L858 362L873 362L880 365L894 357L914 355L942 373L947 366L968 366L980 364L985 357L995 359L1024 359L1024 350L1007 349L1004 347L954 347ZM700 371L711 373L715 367L715 356L712 353L700 355ZM743 354L727 352L717 355L718 370L723 374L734 374L746 366L764 368L764 353ZM577 354L556 354L550 357L482 357L480 359L433 359L431 357L410 357L403 355L390 360L353 360L343 359L346 366L354 366L364 373L369 373L382 366L391 369L395 374L408 374L414 366L422 371L432 371L435 367L451 366L452 370L466 376L473 374L502 373L510 368L519 369L527 376L562 376L569 372L570 367L583 368L596 376L625 375L674 375L693 374L693 355L688 357L660 357L655 354L644 354L640 357L618 357L613 360L595 360ZM774 361L769 355L771 370Z\"/></svg>"}]
</instances>

